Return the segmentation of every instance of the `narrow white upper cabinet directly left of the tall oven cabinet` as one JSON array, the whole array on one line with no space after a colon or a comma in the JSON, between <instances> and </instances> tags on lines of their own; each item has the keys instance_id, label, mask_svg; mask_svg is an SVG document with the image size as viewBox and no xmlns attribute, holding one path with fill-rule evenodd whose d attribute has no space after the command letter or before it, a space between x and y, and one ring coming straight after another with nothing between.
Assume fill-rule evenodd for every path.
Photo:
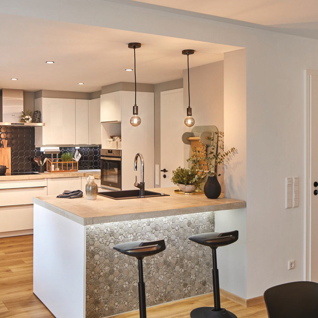
<instances>
[{"instance_id":1,"label":"narrow white upper cabinet directly left of the tall oven cabinet","mask_svg":"<svg viewBox=\"0 0 318 318\"><path fill-rule=\"evenodd\" d=\"M100 98L88 101L88 144L101 144Z\"/></svg>"}]
</instances>

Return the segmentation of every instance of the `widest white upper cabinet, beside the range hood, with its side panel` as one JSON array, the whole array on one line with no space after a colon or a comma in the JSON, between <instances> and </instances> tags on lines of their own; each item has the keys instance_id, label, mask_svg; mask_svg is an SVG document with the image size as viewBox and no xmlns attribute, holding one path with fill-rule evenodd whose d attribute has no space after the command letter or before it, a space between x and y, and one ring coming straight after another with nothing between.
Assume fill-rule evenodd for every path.
<instances>
[{"instance_id":1,"label":"widest white upper cabinet, beside the range hood, with its side panel","mask_svg":"<svg viewBox=\"0 0 318 318\"><path fill-rule=\"evenodd\" d=\"M35 130L36 145L75 144L75 100L41 97L35 100L35 110L42 114L43 127Z\"/></svg>"}]
</instances>

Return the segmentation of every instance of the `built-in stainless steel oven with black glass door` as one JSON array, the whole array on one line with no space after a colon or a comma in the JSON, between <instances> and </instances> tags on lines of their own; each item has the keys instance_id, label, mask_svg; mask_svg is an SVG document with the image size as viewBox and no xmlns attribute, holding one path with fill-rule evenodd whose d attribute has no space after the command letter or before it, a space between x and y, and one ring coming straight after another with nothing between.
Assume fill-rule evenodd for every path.
<instances>
[{"instance_id":1,"label":"built-in stainless steel oven with black glass door","mask_svg":"<svg viewBox=\"0 0 318 318\"><path fill-rule=\"evenodd\" d=\"M121 190L121 150L100 149L100 185L110 190Z\"/></svg>"}]
</instances>

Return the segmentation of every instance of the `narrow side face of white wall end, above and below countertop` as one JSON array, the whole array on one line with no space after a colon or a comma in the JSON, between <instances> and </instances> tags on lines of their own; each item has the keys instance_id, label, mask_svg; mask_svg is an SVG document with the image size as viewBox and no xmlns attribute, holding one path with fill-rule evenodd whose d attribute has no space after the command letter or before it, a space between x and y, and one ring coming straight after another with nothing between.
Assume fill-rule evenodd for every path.
<instances>
[{"instance_id":1,"label":"narrow side face of white wall end, above and below countertop","mask_svg":"<svg viewBox=\"0 0 318 318\"><path fill-rule=\"evenodd\" d=\"M237 153L225 163L225 197L246 201L246 50L224 54L224 146ZM239 240L218 249L220 286L246 298L246 208L215 213L217 232L239 231ZM233 284L235 282L235 284Z\"/></svg>"}]
</instances>

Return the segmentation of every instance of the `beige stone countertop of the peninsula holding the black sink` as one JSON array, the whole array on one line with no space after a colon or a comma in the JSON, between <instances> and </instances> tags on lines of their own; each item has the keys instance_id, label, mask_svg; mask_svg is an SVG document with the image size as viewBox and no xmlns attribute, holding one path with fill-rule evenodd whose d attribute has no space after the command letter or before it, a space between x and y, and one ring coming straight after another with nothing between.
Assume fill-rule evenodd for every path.
<instances>
[{"instance_id":1,"label":"beige stone countertop of the peninsula holding the black sink","mask_svg":"<svg viewBox=\"0 0 318 318\"><path fill-rule=\"evenodd\" d=\"M56 196L34 197L33 203L62 215L81 225L158 218L198 212L240 209L245 201L208 199L204 194L183 195L174 192L176 187L149 189L170 196L114 200L97 196L96 200L67 199Z\"/></svg>"}]
</instances>

